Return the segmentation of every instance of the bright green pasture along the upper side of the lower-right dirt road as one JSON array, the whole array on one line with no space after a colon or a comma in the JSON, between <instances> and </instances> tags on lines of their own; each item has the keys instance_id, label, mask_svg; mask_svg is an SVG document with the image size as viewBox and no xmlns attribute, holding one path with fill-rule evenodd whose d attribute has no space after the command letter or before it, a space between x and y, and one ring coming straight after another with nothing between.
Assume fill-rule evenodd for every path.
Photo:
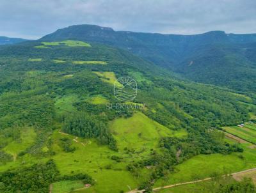
<instances>
[{"instance_id":1,"label":"bright green pasture along the upper side of the lower-right dirt road","mask_svg":"<svg viewBox=\"0 0 256 193\"><path fill-rule=\"evenodd\" d=\"M161 187L162 185L207 178L213 173L234 173L256 167L256 149L251 149L252 144L250 143L240 144L240 146L244 148L243 153L231 153L230 155L216 153L190 158L176 167L176 173L169 174L165 180L158 180L154 186ZM239 155L243 155L243 158Z\"/></svg>"}]
</instances>

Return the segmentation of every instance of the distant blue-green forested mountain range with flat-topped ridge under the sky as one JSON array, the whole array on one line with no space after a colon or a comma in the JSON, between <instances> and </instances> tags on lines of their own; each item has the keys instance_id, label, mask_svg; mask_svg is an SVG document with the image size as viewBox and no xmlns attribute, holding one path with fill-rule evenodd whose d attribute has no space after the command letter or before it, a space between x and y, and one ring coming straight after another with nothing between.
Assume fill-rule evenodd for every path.
<instances>
[{"instance_id":1,"label":"distant blue-green forested mountain range with flat-topped ridge under the sky","mask_svg":"<svg viewBox=\"0 0 256 193\"><path fill-rule=\"evenodd\" d=\"M67 39L129 50L192 81L256 91L256 34L162 35L76 25L58 29L40 41Z\"/></svg>"}]
</instances>

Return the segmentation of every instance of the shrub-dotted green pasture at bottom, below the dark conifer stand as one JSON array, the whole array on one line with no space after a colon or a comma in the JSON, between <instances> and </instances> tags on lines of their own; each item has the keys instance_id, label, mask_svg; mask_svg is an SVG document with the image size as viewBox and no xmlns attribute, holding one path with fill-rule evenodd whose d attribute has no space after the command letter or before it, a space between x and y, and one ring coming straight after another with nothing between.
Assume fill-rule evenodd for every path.
<instances>
[{"instance_id":1,"label":"shrub-dotted green pasture at bottom, below the dark conifer stand","mask_svg":"<svg viewBox=\"0 0 256 193\"><path fill-rule=\"evenodd\" d=\"M125 169L126 162L116 163L111 160L111 155L119 155L119 153L109 150L107 146L101 146L93 139L78 137L77 141L82 142L85 146L72 141L72 146L76 147L77 150L74 153L65 153L58 146L58 140L62 137L75 138L73 135L54 132L52 139L54 141L53 150L56 155L52 156L52 158L56 161L61 174L87 173L97 180L96 184L86 191L95 190L95 192L102 193L128 191L127 185L134 189L138 185L138 181L141 181L141 179L134 179L132 174ZM106 169L106 166L111 166L111 169Z\"/></svg>"}]
</instances>

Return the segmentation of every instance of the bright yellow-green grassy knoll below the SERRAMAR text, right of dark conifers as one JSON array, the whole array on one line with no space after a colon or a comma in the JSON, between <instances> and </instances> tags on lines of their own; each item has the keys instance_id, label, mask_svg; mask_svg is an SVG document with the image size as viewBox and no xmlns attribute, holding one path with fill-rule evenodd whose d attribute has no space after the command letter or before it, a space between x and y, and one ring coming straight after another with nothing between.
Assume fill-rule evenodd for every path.
<instances>
[{"instance_id":1,"label":"bright yellow-green grassy knoll below the SERRAMAR text, right of dark conifers","mask_svg":"<svg viewBox=\"0 0 256 193\"><path fill-rule=\"evenodd\" d=\"M141 155L147 155L151 149L156 149L161 137L185 137L186 132L172 131L145 114L136 112L131 118L118 118L111 124L111 132L117 141L120 151L124 148L134 149Z\"/></svg>"}]
</instances>

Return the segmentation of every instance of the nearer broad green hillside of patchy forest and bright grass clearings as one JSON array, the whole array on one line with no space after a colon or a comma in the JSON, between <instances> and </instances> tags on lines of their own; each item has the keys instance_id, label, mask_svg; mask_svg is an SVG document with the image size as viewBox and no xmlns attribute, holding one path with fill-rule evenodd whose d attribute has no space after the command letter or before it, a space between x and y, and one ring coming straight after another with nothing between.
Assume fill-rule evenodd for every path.
<instances>
[{"instance_id":1,"label":"nearer broad green hillside of patchy forest and bright grass clearings","mask_svg":"<svg viewBox=\"0 0 256 193\"><path fill-rule=\"evenodd\" d=\"M138 84L132 102L113 94L120 77ZM150 190L196 155L243 152L218 129L253 120L255 103L108 45L56 38L2 46L0 190L49 192L75 180L95 192L124 192L127 183ZM38 183L22 186L16 176L33 180L35 168Z\"/></svg>"}]
</instances>

